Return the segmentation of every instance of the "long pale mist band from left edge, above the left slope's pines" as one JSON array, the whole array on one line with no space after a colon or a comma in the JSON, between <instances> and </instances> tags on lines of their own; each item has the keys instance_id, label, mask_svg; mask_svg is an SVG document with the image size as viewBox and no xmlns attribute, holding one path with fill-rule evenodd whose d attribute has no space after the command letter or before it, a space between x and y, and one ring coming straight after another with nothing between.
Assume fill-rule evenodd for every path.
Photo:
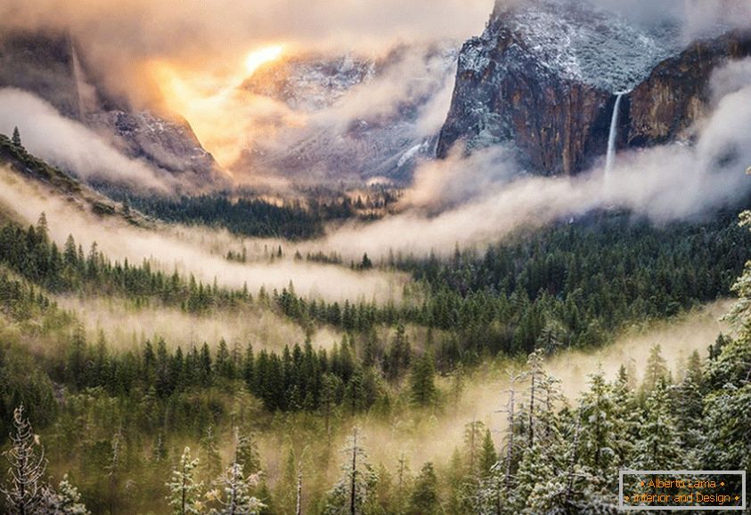
<instances>
[{"instance_id":1,"label":"long pale mist band from left edge, above the left slope's pines","mask_svg":"<svg viewBox=\"0 0 751 515\"><path fill-rule=\"evenodd\" d=\"M344 267L295 262L229 262L224 253L212 253L194 237L180 237L174 228L139 229L115 217L104 219L88 213L84 206L58 197L45 186L23 181L16 173L0 169L0 205L27 223L36 223L45 213L51 237L63 245L72 234L78 244L89 248L94 242L112 260L131 263L149 261L152 266L172 273L193 274L205 284L216 280L219 286L240 289L248 286L256 293L290 286L296 293L330 301L348 299L386 302L401 296L406 278L402 274L376 270L357 272ZM187 230L187 229L184 229Z\"/></svg>"}]
</instances>

